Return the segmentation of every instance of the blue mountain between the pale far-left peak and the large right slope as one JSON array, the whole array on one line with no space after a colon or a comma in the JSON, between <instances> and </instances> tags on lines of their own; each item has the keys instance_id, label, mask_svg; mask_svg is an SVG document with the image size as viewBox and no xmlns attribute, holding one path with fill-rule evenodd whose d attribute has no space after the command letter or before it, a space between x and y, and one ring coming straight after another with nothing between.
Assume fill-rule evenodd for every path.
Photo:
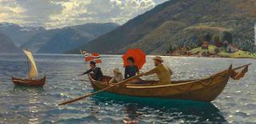
<instances>
[{"instance_id":1,"label":"blue mountain between the pale far-left peak and the large right slope","mask_svg":"<svg viewBox=\"0 0 256 124\"><path fill-rule=\"evenodd\" d=\"M31 39L31 41L40 41L39 45L37 43L33 45L42 45L38 50L38 53L61 54L67 50L72 50L78 46L81 46L86 42L90 42L94 38L98 38L100 35L106 34L110 30L114 30L117 27L118 24L115 23L87 23L78 26L68 26L60 30L51 30L51 32L54 33L44 33L48 36L45 37L45 40L41 41L39 39L42 38L36 36L36 38ZM42 34L39 34L39 36L42 36ZM50 38L50 36L53 37ZM27 44L33 43L27 42L26 45Z\"/></svg>"}]
</instances>

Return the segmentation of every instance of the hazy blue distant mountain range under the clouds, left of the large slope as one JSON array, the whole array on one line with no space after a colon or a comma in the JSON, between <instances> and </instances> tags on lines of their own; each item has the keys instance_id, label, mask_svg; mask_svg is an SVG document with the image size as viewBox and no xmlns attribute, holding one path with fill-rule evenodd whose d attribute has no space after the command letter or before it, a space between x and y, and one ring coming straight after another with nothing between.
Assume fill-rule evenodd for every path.
<instances>
[{"instance_id":1,"label":"hazy blue distant mountain range under the clouds, left of the large slope","mask_svg":"<svg viewBox=\"0 0 256 124\"><path fill-rule=\"evenodd\" d=\"M87 23L78 26L45 30L42 27L0 23L0 33L6 34L16 46L34 53L61 54L89 42L118 27L116 23Z\"/></svg>"}]
</instances>

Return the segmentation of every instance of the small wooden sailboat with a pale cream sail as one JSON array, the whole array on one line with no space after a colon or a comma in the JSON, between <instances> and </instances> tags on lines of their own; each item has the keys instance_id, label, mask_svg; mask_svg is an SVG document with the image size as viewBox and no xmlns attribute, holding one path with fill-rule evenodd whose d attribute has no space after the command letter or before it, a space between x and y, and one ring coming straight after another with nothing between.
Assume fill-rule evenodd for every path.
<instances>
[{"instance_id":1,"label":"small wooden sailboat with a pale cream sail","mask_svg":"<svg viewBox=\"0 0 256 124\"><path fill-rule=\"evenodd\" d=\"M28 64L28 75L26 78L14 78L12 76L12 80L15 85L17 86L44 86L46 83L46 76L43 78L35 79L38 78L38 69L36 66L36 63L34 62L33 55L30 51L28 50L23 50L24 53L26 54L27 57L27 62L30 63Z\"/></svg>"}]
</instances>

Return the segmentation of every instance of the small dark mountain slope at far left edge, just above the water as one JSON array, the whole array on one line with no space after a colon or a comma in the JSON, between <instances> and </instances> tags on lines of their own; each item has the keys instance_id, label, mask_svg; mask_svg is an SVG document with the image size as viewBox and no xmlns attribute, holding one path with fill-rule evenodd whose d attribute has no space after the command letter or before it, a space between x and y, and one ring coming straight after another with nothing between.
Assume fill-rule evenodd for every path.
<instances>
[{"instance_id":1,"label":"small dark mountain slope at far left edge, just above the water","mask_svg":"<svg viewBox=\"0 0 256 124\"><path fill-rule=\"evenodd\" d=\"M21 52L22 50L15 46L6 34L0 33L0 54L18 54Z\"/></svg>"}]
</instances>

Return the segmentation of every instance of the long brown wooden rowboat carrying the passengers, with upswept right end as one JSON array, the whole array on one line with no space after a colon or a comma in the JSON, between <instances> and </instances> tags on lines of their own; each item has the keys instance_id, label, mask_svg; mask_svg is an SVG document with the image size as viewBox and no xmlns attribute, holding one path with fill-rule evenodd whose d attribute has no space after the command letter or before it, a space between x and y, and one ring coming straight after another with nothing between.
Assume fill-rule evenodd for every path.
<instances>
[{"instance_id":1,"label":"long brown wooden rowboat carrying the passengers, with upswept right end","mask_svg":"<svg viewBox=\"0 0 256 124\"><path fill-rule=\"evenodd\" d=\"M182 99L198 102L211 102L218 97L224 90L227 82L232 77L234 70L241 69L244 66L232 69L232 65L227 70L222 70L209 77L188 80L172 81L167 85L158 85L158 81L142 81L142 84L126 83L107 89L107 92L136 97L150 98L170 98ZM247 65L248 68L248 65ZM102 90L108 86L113 86L109 76L104 76L102 82L94 80L93 76L88 74L91 86L94 90Z\"/></svg>"}]
</instances>

